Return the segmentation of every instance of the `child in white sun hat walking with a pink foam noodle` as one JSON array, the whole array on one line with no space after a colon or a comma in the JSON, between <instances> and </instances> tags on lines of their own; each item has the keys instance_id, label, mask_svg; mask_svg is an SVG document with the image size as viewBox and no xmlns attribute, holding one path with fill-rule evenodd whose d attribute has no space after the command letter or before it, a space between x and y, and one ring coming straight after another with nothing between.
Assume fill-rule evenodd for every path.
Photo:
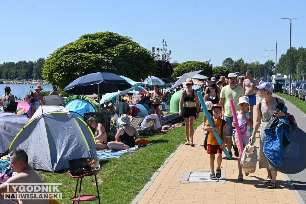
<instances>
[{"instance_id":1,"label":"child in white sun hat walking with a pink foam noodle","mask_svg":"<svg viewBox=\"0 0 306 204\"><path fill-rule=\"evenodd\" d=\"M245 148L245 145L249 143L249 138L252 135L251 128L253 127L253 113L248 111L248 107L250 106L249 99L246 96L241 96L239 98L238 106L240 106L241 110L237 111L237 119L239 124L239 129L236 129L237 131L240 131L241 133L241 139L243 144L238 143L237 133L235 132L235 142L239 149L239 145L243 145L243 149ZM235 127L236 121L233 121L232 126ZM241 153L239 152L238 157L238 169L239 169L239 175L238 175L238 181L243 181L243 174L242 174L242 168L241 168ZM248 173L244 173L245 176L248 176Z\"/></svg>"}]
</instances>

